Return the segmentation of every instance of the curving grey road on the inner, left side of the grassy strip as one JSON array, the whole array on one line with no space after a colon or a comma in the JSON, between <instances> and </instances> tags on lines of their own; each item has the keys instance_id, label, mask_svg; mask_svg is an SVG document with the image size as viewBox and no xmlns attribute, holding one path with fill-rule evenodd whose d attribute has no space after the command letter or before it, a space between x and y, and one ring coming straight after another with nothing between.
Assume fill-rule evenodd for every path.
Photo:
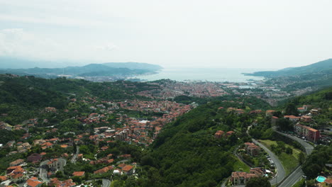
<instances>
[{"instance_id":1,"label":"curving grey road on the inner, left side of the grassy strip","mask_svg":"<svg viewBox=\"0 0 332 187\"><path fill-rule=\"evenodd\" d=\"M270 179L271 185L275 185L278 183L278 181L279 182L282 181L286 177L286 171L284 171L284 166L282 166L282 163L280 162L278 157L273 152L271 152L270 149L267 149L267 147L265 147L265 145L262 145L260 142L258 142L255 139L252 139L252 140L256 145L259 145L260 147L262 147L262 149L264 149L265 152L267 152L267 154L270 155L273 162L275 162L275 168L277 169L277 174L275 175L275 178Z\"/></svg>"}]
</instances>

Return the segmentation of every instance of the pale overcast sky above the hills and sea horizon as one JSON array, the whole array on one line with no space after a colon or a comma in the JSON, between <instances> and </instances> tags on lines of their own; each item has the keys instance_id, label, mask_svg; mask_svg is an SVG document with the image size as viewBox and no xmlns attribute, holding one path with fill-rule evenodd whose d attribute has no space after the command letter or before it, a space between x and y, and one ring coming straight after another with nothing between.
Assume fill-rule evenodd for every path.
<instances>
[{"instance_id":1,"label":"pale overcast sky above the hills and sea horizon","mask_svg":"<svg viewBox=\"0 0 332 187\"><path fill-rule=\"evenodd\" d=\"M331 0L0 0L0 57L298 67L332 58L331 7Z\"/></svg>"}]
</instances>

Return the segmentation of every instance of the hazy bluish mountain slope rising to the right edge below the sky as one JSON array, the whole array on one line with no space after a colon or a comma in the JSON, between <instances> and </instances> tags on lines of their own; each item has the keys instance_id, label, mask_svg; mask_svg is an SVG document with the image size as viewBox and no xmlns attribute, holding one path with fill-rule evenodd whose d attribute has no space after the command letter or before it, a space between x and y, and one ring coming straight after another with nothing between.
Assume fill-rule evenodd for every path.
<instances>
[{"instance_id":1,"label":"hazy bluish mountain slope rising to the right edge below the sky","mask_svg":"<svg viewBox=\"0 0 332 187\"><path fill-rule=\"evenodd\" d=\"M294 75L303 75L311 73L329 73L332 70L332 59L323 60L321 62L316 62L303 67L288 67L285 69L280 69L278 71L270 72L254 72L253 74L245 74L250 76L260 76L260 77L285 77Z\"/></svg>"}]
</instances>

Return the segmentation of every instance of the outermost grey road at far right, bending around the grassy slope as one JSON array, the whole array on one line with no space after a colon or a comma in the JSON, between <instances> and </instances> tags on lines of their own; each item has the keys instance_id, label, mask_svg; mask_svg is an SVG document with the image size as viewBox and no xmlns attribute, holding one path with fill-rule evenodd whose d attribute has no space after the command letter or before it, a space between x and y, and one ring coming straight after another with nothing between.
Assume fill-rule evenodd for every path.
<instances>
[{"instance_id":1,"label":"outermost grey road at far right, bending around the grassy slope","mask_svg":"<svg viewBox=\"0 0 332 187\"><path fill-rule=\"evenodd\" d=\"M274 130L275 130L275 128L274 128ZM311 154L311 152L314 150L314 146L310 145L309 143L305 142L304 140L302 140L299 137L287 135L287 134L285 134L283 132L279 132L277 130L275 130L275 132L299 142L299 144L301 144L304 147L304 149L306 149L307 155ZM294 185L294 183L297 183L297 181L302 179L303 175L304 175L304 173L301 169L301 166L299 166L291 174L289 174L289 176L287 176L287 178L284 181L282 181L282 183L279 184L279 187L292 187Z\"/></svg>"}]
</instances>

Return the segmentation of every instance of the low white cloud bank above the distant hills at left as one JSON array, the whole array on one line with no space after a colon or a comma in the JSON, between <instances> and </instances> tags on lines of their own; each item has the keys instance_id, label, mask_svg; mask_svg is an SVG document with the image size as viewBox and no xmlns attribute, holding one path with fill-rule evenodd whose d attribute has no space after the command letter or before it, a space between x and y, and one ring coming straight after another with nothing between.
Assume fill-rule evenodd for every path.
<instances>
[{"instance_id":1,"label":"low white cloud bank above the distant hills at left","mask_svg":"<svg viewBox=\"0 0 332 187\"><path fill-rule=\"evenodd\" d=\"M117 49L113 42L80 45L75 40L55 40L22 28L0 30L0 56L37 60L108 60L110 51Z\"/></svg>"}]
</instances>

